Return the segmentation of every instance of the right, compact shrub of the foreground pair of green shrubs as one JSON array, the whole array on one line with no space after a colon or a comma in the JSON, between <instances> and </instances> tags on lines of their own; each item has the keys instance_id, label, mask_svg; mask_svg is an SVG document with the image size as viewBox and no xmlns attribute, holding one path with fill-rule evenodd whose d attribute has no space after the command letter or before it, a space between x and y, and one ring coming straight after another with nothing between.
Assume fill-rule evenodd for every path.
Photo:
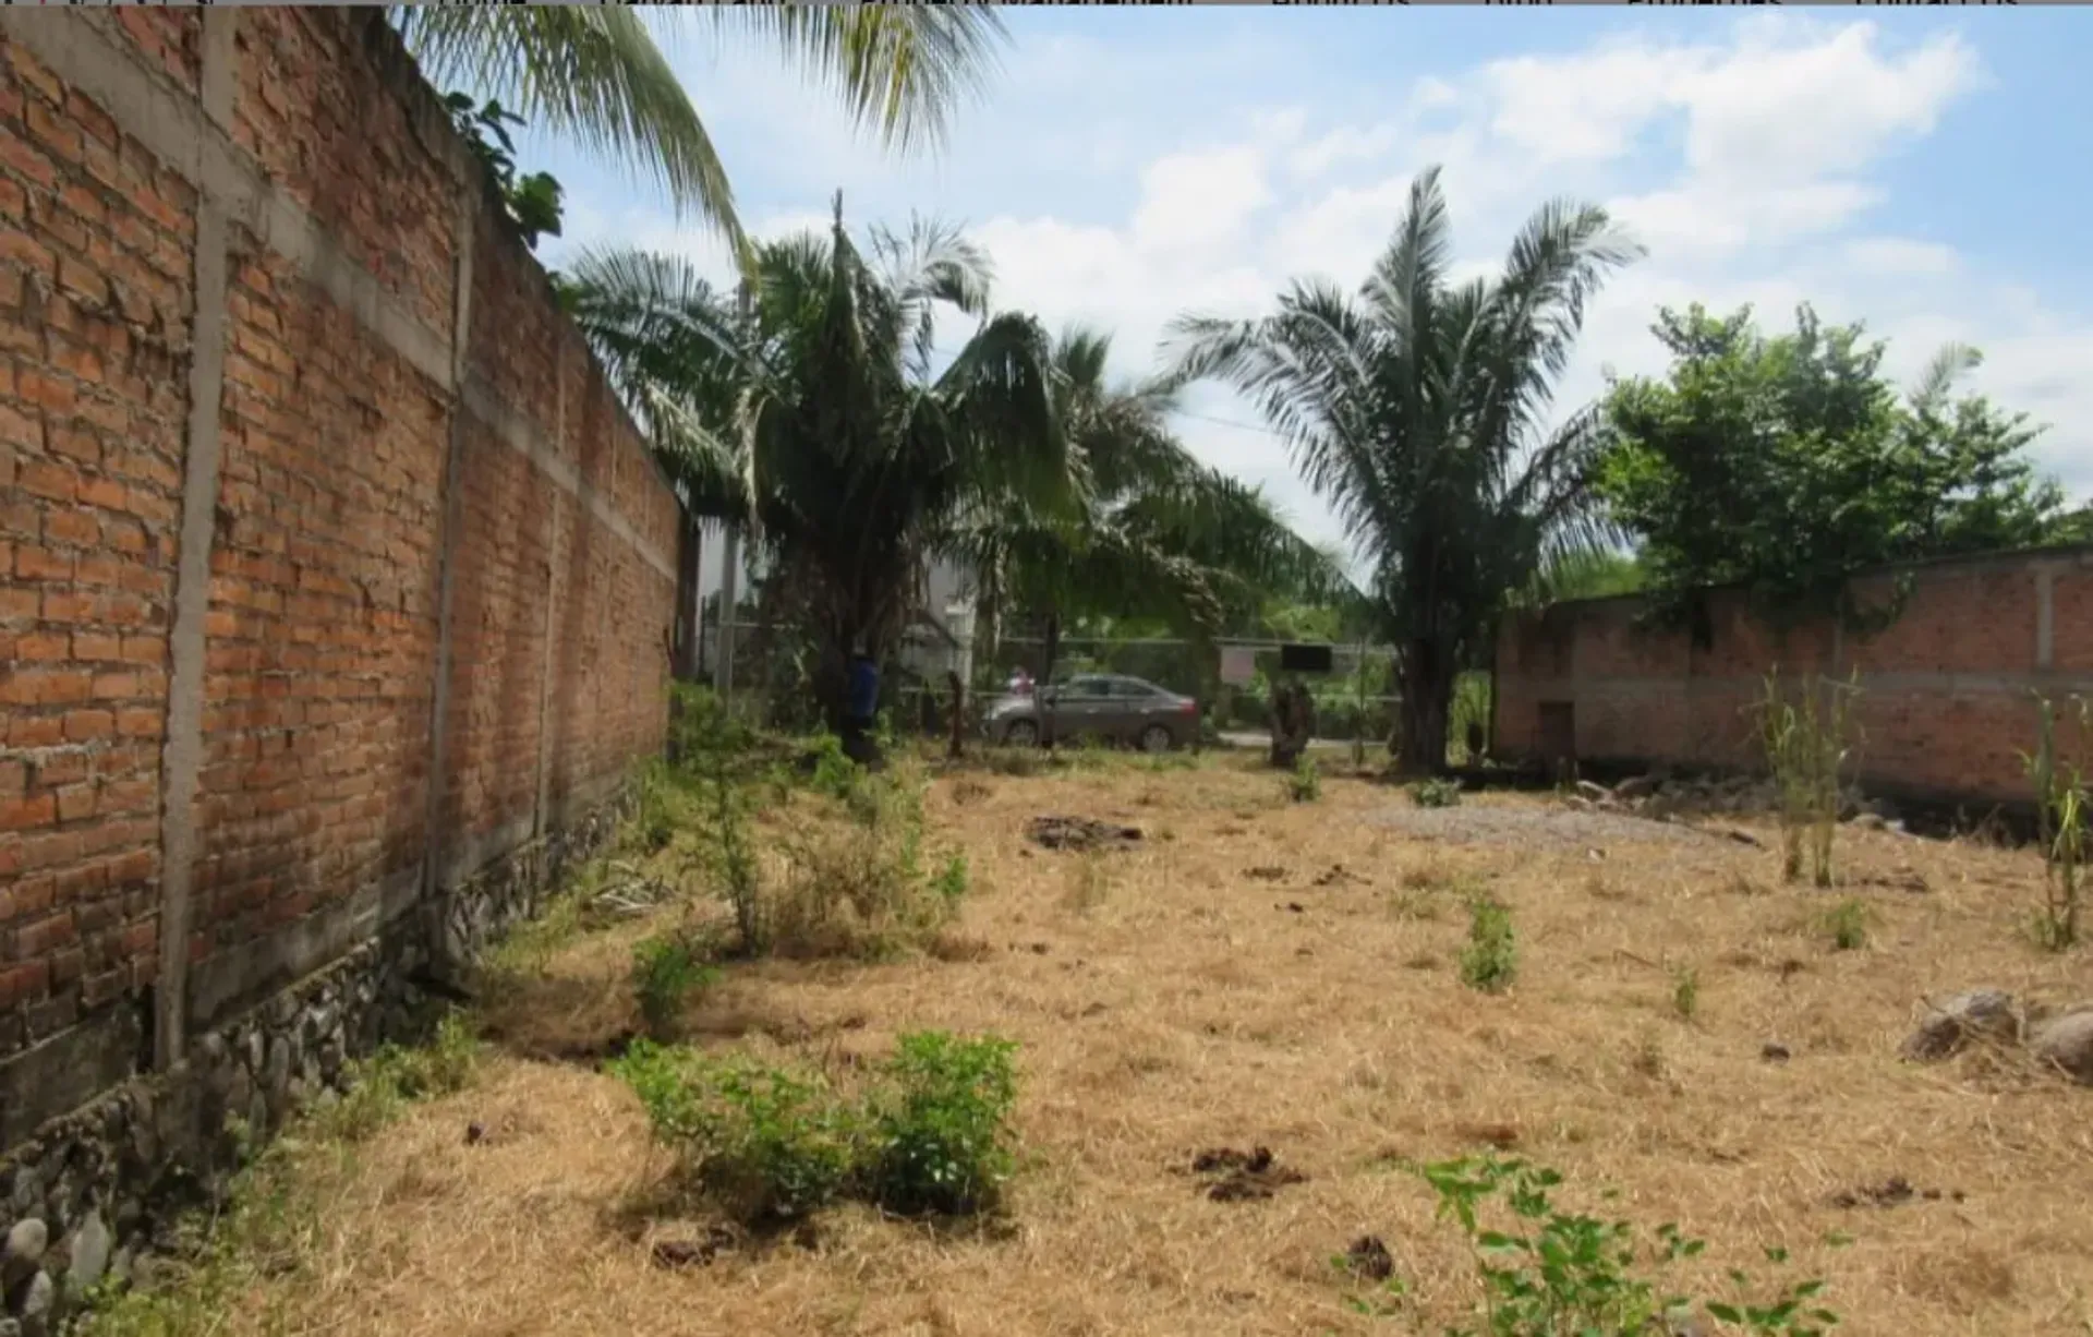
<instances>
[{"instance_id":1,"label":"right, compact shrub of the foreground pair of green shrubs","mask_svg":"<svg viewBox=\"0 0 2093 1337\"><path fill-rule=\"evenodd\" d=\"M1017 1075L1009 1040L902 1036L871 1111L867 1195L900 1216L961 1216L1009 1178Z\"/></svg>"}]
</instances>

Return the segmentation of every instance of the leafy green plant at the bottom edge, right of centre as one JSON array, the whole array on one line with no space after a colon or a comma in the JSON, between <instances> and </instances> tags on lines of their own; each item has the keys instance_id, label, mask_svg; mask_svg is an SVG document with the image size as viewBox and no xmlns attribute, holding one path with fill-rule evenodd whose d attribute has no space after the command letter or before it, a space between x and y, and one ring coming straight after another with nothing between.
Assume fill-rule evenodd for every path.
<instances>
[{"instance_id":1,"label":"leafy green plant at the bottom edge, right of centre","mask_svg":"<svg viewBox=\"0 0 2093 1337\"><path fill-rule=\"evenodd\" d=\"M1693 1299L1660 1291L1649 1270L1706 1249L1676 1226L1637 1239L1624 1220L1566 1211L1553 1201L1561 1174L1520 1159L1463 1157L1419 1168L1438 1193L1438 1220L1453 1220L1476 1251L1476 1327L1448 1327L1446 1337L1645 1337L1676 1331ZM1486 1224L1484 1209L1501 1203L1507 1222ZM1785 1262L1779 1249L1769 1260ZM1739 1289L1750 1276L1733 1270ZM1804 1281L1771 1301L1725 1299L1702 1306L1710 1318L1760 1337L1823 1337L1838 1314L1815 1306L1821 1281Z\"/></svg>"}]
</instances>

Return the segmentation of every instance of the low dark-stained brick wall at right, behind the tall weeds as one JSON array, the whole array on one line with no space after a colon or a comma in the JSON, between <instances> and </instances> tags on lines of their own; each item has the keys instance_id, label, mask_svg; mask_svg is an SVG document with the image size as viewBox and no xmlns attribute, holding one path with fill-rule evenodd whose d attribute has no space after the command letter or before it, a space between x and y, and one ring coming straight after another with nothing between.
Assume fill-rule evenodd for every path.
<instances>
[{"instance_id":1,"label":"low dark-stained brick wall at right, behind the tall weeds","mask_svg":"<svg viewBox=\"0 0 2093 1337\"><path fill-rule=\"evenodd\" d=\"M1496 747L1553 760L1758 766L1752 707L1764 678L1859 674L1859 774L1884 793L2024 803L2032 693L2093 695L2093 550L2016 552L1911 571L1903 615L1861 638L1829 621L1777 634L1731 590L1710 594L1706 644L1637 626L1637 598L1505 619ZM1865 607L1894 573L1854 580ZM1563 713L1568 711L1568 722Z\"/></svg>"}]
</instances>

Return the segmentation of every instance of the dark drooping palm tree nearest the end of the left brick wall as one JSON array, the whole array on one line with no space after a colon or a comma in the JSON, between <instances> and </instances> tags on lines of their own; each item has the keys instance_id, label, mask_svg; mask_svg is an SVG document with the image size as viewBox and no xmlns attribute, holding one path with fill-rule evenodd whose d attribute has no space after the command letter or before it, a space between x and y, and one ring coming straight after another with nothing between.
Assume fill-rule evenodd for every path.
<instances>
[{"instance_id":1,"label":"dark drooping palm tree nearest the end of the left brick wall","mask_svg":"<svg viewBox=\"0 0 2093 1337\"><path fill-rule=\"evenodd\" d=\"M816 636L816 690L841 722L848 659L879 659L919 607L952 517L1072 504L1051 341L990 310L990 266L936 222L751 249L747 316L684 262L590 253L576 318L684 508L749 531ZM973 318L933 370L940 312Z\"/></svg>"}]
</instances>

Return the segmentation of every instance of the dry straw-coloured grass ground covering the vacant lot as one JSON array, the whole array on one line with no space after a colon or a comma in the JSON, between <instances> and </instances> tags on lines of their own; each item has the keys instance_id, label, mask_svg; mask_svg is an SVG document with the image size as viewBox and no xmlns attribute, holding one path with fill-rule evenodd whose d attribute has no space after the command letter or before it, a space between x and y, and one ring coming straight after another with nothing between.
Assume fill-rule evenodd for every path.
<instances>
[{"instance_id":1,"label":"dry straw-coloured grass ground covering the vacant lot","mask_svg":"<svg viewBox=\"0 0 2093 1337\"><path fill-rule=\"evenodd\" d=\"M797 1241L653 1262L705 1226L643 1211L661 1155L592 1065L634 1025L634 925L502 985L465 1092L308 1157L314 1211L228 1331L1438 1333L1473 1268L1402 1165L1488 1149L1559 1168L1570 1203L1708 1239L1679 1272L1702 1297L1746 1266L1825 1278L1854 1333L2093 1331L2093 1092L1997 1055L1896 1059L1926 996L2093 994L2083 956L2022 933L2028 852L1844 831L1848 885L1819 893L1777 885L1750 822L1769 847L1545 797L1423 812L1350 778L1293 803L1220 760L946 774L929 812L933 849L973 868L933 954L730 967L687 1023L829 1065L919 1027L1017 1040L1000 1224L848 1207ZM1042 849L1042 814L1141 839ZM1503 994L1459 977L1473 891L1511 910ZM1867 942L1836 950L1825 912L1848 896ZM1216 1147L1304 1178L1216 1201L1189 1172ZM1348 1304L1363 1287L1331 1264L1363 1234L1409 1283L1386 1312Z\"/></svg>"}]
</instances>

